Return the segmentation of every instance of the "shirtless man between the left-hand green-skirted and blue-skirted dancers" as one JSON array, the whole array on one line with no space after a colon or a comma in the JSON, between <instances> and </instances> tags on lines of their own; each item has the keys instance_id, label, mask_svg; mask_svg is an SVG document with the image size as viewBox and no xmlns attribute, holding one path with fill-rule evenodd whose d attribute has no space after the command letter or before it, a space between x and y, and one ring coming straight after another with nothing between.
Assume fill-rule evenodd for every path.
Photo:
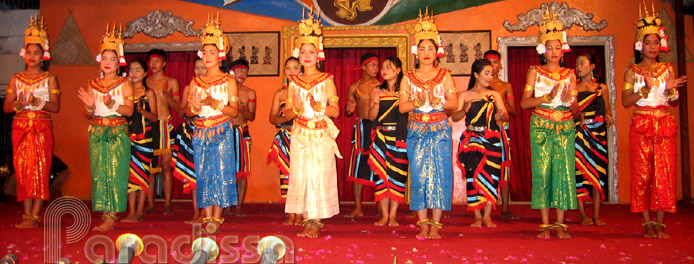
<instances>
[{"instance_id":1,"label":"shirtless man between the left-hand green-skirted and blue-skirted dancers","mask_svg":"<svg viewBox=\"0 0 694 264\"><path fill-rule=\"evenodd\" d=\"M147 53L147 65L152 71L152 75L146 79L146 82L147 87L152 89L157 95L157 114L159 117L158 125L155 127L157 149L154 150L154 155L159 156L159 159L153 159L153 161L159 160L159 162L156 164L157 166L155 164L152 165L152 179L156 179L154 176L157 172L161 172L164 175L164 215L171 215L173 214L171 209L171 193L173 192L171 146L175 135L169 107L178 107L181 96L179 94L178 80L164 74L166 58L166 53L160 49L153 49ZM155 185L152 184L151 186ZM155 189L149 192L149 208L146 210L147 212L154 211L155 192Z\"/></svg>"}]
</instances>

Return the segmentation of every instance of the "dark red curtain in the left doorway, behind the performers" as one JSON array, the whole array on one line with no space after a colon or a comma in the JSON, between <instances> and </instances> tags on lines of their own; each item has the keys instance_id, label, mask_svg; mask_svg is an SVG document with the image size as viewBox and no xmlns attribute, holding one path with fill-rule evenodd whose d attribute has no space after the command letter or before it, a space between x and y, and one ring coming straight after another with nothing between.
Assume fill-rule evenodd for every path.
<instances>
[{"instance_id":1,"label":"dark red curtain in the left doorway, behind the performers","mask_svg":"<svg viewBox=\"0 0 694 264\"><path fill-rule=\"evenodd\" d=\"M175 51L167 52L166 55L166 67L164 68L164 73L166 76L174 77L178 80L178 85L180 87L180 93L183 94L183 89L190 83L190 81L195 76L195 58L198 57L196 51ZM126 53L125 60L130 65L135 59L141 59L147 63L147 53ZM126 67L126 72L128 71ZM152 75L152 71L148 72ZM174 124L178 126L181 123L181 118L178 114L171 109L171 115L173 116ZM173 199L191 199L190 194L183 194L183 182L174 179L173 181ZM161 182L163 184L163 182Z\"/></svg>"}]
</instances>

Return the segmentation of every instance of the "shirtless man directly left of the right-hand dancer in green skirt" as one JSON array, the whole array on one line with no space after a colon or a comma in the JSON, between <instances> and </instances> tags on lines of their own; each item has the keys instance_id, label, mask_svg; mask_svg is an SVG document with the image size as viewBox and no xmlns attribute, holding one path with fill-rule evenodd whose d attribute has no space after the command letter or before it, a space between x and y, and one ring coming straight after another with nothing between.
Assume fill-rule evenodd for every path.
<instances>
[{"instance_id":1,"label":"shirtless man directly left of the right-hand dancer in green skirt","mask_svg":"<svg viewBox=\"0 0 694 264\"><path fill-rule=\"evenodd\" d=\"M494 71L492 72L492 82L489 86L497 91L502 98L504 98L504 103L506 105L506 111L510 116L516 116L516 102L513 98L513 87L510 83L504 82L499 79L499 70L501 70L501 54L496 50L488 50L484 53L484 58L492 62ZM509 177L511 176L511 138L509 137L508 123L504 123L504 130L502 131L502 167L501 174L502 179L500 182L501 188L501 217L509 219L518 219L518 216L514 215L509 211L508 204L510 202L509 196Z\"/></svg>"}]
</instances>

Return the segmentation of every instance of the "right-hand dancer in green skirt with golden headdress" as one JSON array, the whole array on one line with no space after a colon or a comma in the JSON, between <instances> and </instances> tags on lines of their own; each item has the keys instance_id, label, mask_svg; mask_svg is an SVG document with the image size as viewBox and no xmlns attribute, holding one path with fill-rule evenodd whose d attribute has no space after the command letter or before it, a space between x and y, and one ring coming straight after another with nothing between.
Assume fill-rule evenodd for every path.
<instances>
[{"instance_id":1,"label":"right-hand dancer in green skirt with golden headdress","mask_svg":"<svg viewBox=\"0 0 694 264\"><path fill-rule=\"evenodd\" d=\"M542 66L528 70L521 99L523 109L534 108L530 117L532 155L532 209L540 209L542 224L538 238L549 238L556 229L560 239L570 238L564 224L564 211L578 207L576 202L576 162L573 113L576 105L576 77L561 66L569 51L563 26L553 13L542 21L537 51ZM547 25L554 30L545 30ZM557 221L549 223L549 209L556 208Z\"/></svg>"}]
</instances>

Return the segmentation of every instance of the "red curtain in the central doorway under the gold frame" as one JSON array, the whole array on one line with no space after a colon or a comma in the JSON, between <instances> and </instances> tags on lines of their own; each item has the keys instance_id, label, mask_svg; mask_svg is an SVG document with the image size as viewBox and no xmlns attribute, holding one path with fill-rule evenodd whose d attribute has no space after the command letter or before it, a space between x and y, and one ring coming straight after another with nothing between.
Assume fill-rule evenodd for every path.
<instances>
[{"instance_id":1,"label":"red curtain in the central doorway under the gold frame","mask_svg":"<svg viewBox=\"0 0 694 264\"><path fill-rule=\"evenodd\" d=\"M354 189L351 182L347 181L349 158L352 154L352 134L354 134L355 117L344 115L345 102L347 102L347 90L349 86L361 79L362 72L354 71L359 67L361 56L365 53L374 53L383 61L389 56L397 56L397 48L354 48L354 49L326 49L323 68L325 72L335 75L335 86L340 96L340 117L333 119L340 134L337 137L337 146L343 159L337 160L338 192L340 201L354 201ZM379 76L380 78L380 76ZM364 201L373 201L373 187L364 186Z\"/></svg>"}]
</instances>

